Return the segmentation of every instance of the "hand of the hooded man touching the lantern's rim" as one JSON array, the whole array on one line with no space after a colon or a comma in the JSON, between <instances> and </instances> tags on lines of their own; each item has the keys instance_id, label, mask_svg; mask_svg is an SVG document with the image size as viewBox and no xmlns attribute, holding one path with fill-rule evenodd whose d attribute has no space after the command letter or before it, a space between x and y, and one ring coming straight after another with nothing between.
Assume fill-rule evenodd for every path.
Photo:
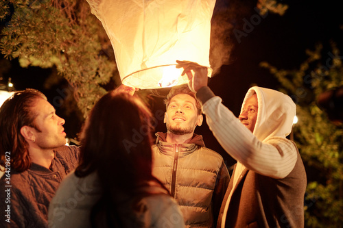
<instances>
[{"instance_id":1,"label":"hand of the hooded man touching the lantern's rim","mask_svg":"<svg viewBox=\"0 0 343 228\"><path fill-rule=\"evenodd\" d=\"M179 61L176 60L178 65L176 68L183 68L182 75L187 74L189 79L188 86L189 89L193 92L198 91L200 88L207 86L207 67L200 66L196 62L191 61ZM194 75L192 73L194 72Z\"/></svg>"}]
</instances>

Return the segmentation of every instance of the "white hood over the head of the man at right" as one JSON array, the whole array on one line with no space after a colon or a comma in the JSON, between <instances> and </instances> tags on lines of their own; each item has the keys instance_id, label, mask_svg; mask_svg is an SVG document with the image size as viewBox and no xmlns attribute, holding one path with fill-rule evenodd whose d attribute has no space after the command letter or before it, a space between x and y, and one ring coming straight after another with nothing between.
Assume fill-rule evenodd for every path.
<instances>
[{"instance_id":1,"label":"white hood over the head of the man at right","mask_svg":"<svg viewBox=\"0 0 343 228\"><path fill-rule=\"evenodd\" d=\"M296 104L282 92L254 86L246 93L241 112L246 100L254 93L257 94L259 109L253 134L261 141L274 136L288 136L292 131Z\"/></svg>"}]
</instances>

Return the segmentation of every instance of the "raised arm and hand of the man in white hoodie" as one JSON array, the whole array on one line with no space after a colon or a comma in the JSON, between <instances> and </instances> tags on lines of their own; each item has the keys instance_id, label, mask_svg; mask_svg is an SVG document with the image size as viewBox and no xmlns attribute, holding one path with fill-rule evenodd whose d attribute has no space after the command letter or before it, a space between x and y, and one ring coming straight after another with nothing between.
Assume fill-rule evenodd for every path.
<instances>
[{"instance_id":1,"label":"raised arm and hand of the man in white hoodie","mask_svg":"<svg viewBox=\"0 0 343 228\"><path fill-rule=\"evenodd\" d=\"M281 137L261 142L239 123L238 118L222 104L220 97L207 87L205 67L191 62L178 62L189 77L189 87L196 91L202 112L215 138L225 151L246 168L273 178L286 177L296 162L296 147ZM193 71L193 73L191 72Z\"/></svg>"}]
</instances>

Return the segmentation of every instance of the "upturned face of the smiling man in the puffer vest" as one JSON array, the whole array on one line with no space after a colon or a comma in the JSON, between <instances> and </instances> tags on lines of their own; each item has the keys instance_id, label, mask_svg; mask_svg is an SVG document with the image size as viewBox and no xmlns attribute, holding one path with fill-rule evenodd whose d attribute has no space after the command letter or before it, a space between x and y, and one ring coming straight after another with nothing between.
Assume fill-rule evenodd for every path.
<instances>
[{"instance_id":1,"label":"upturned face of the smiling man in the puffer vest","mask_svg":"<svg viewBox=\"0 0 343 228\"><path fill-rule=\"evenodd\" d=\"M202 115L198 115L196 108L196 99L189 94L175 95L165 112L164 123L172 134L192 134L196 126L202 124Z\"/></svg>"}]
</instances>

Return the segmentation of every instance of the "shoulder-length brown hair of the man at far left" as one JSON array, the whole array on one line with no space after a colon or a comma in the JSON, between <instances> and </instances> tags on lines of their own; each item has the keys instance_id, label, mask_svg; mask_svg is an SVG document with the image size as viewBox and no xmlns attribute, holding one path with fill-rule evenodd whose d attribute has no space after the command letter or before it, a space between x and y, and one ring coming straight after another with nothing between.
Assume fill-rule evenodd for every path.
<instances>
[{"instance_id":1,"label":"shoulder-length brown hair of the man at far left","mask_svg":"<svg viewBox=\"0 0 343 228\"><path fill-rule=\"evenodd\" d=\"M1 164L5 163L5 153L10 152L11 167L19 173L31 166L28 144L21 135L21 127L34 127L39 131L34 124L38 113L32 108L36 105L37 99L47 100L47 97L38 90L26 89L15 92L0 107Z\"/></svg>"}]
</instances>

